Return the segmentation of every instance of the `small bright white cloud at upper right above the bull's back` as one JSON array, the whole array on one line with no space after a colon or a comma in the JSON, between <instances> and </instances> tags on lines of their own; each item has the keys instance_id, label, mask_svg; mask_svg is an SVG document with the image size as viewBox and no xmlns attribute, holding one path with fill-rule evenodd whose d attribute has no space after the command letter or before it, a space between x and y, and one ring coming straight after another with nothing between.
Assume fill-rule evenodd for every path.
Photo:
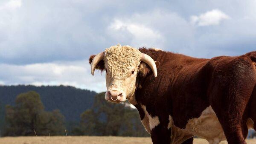
<instances>
[{"instance_id":1,"label":"small bright white cloud at upper right above the bull's back","mask_svg":"<svg viewBox=\"0 0 256 144\"><path fill-rule=\"evenodd\" d=\"M192 24L198 26L210 26L210 25L219 25L222 20L230 19L230 16L221 12L218 9L213 9L199 16L193 15L190 17Z\"/></svg>"}]
</instances>

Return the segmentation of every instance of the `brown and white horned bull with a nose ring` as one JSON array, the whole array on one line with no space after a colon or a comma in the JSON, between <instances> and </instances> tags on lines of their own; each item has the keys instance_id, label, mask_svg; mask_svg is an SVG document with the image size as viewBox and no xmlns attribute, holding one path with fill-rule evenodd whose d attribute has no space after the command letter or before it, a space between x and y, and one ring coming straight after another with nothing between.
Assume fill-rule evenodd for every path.
<instances>
[{"instance_id":1,"label":"brown and white horned bull with a nose ring","mask_svg":"<svg viewBox=\"0 0 256 144\"><path fill-rule=\"evenodd\" d=\"M204 59L118 44L89 63L106 71L105 99L133 104L154 144L246 144L256 129L256 52Z\"/></svg>"}]
</instances>

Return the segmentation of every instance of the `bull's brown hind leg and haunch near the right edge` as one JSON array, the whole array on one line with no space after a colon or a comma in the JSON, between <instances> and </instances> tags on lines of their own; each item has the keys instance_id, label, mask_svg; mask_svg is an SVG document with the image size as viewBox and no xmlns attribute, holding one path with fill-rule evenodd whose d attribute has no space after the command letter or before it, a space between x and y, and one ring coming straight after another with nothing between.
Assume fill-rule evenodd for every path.
<instances>
[{"instance_id":1,"label":"bull's brown hind leg and haunch near the right edge","mask_svg":"<svg viewBox=\"0 0 256 144\"><path fill-rule=\"evenodd\" d=\"M209 101L227 141L229 144L246 144L242 117L256 83L251 61L239 57L218 66L212 76Z\"/></svg>"}]
</instances>

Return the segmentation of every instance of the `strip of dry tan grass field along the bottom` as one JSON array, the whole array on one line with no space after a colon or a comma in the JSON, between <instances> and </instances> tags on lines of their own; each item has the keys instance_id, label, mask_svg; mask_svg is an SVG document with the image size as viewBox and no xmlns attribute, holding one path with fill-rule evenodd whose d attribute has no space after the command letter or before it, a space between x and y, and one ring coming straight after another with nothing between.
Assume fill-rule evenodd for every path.
<instances>
[{"instance_id":1,"label":"strip of dry tan grass field along the bottom","mask_svg":"<svg viewBox=\"0 0 256 144\"><path fill-rule=\"evenodd\" d=\"M115 136L27 136L3 137L0 144L152 144L150 138L115 137ZM194 144L208 144L195 138ZM221 144L227 144L226 141ZM247 140L247 144L256 144L256 139Z\"/></svg>"}]
</instances>

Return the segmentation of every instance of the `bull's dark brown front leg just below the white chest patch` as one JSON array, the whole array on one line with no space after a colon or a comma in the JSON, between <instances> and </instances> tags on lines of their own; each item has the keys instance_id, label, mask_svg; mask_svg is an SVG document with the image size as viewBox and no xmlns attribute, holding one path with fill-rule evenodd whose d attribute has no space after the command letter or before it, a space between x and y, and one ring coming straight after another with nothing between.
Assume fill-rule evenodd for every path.
<instances>
[{"instance_id":1,"label":"bull's dark brown front leg just below the white chest patch","mask_svg":"<svg viewBox=\"0 0 256 144\"><path fill-rule=\"evenodd\" d=\"M171 144L171 130L161 124L151 130L153 144Z\"/></svg>"}]
</instances>

